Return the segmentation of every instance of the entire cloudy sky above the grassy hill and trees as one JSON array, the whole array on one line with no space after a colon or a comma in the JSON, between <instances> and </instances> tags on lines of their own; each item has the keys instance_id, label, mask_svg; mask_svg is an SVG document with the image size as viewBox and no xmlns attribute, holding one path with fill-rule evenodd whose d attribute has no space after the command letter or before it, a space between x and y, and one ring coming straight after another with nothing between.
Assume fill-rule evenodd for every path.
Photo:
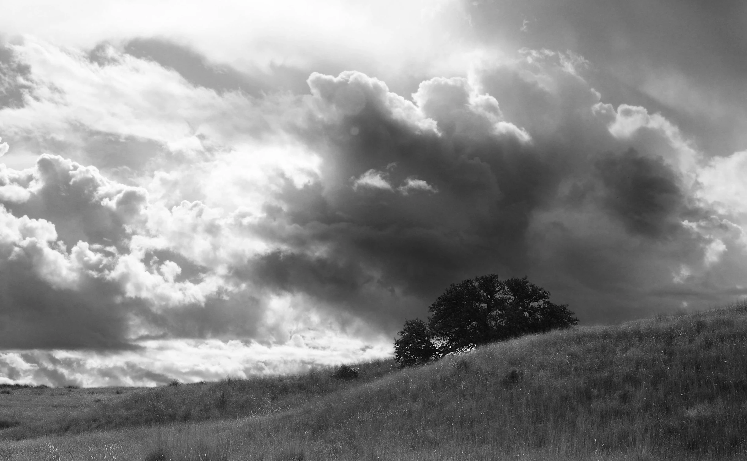
<instances>
[{"instance_id":1,"label":"entire cloudy sky above the grassy hill and trees","mask_svg":"<svg viewBox=\"0 0 747 461\"><path fill-rule=\"evenodd\" d=\"M0 0L0 383L391 356L451 283L747 294L747 4Z\"/></svg>"}]
</instances>

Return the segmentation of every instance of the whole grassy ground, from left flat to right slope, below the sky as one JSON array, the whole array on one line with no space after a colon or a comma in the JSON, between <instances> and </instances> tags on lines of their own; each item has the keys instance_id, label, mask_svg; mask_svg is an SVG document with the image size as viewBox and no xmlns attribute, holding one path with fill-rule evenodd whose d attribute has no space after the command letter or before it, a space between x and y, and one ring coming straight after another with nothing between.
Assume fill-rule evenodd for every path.
<instances>
[{"instance_id":1,"label":"whole grassy ground, from left flat to right slope, below the sky","mask_svg":"<svg viewBox=\"0 0 747 461\"><path fill-rule=\"evenodd\" d=\"M316 369L10 389L0 460L747 458L746 305L529 335L418 368L353 366L351 380Z\"/></svg>"}]
</instances>

